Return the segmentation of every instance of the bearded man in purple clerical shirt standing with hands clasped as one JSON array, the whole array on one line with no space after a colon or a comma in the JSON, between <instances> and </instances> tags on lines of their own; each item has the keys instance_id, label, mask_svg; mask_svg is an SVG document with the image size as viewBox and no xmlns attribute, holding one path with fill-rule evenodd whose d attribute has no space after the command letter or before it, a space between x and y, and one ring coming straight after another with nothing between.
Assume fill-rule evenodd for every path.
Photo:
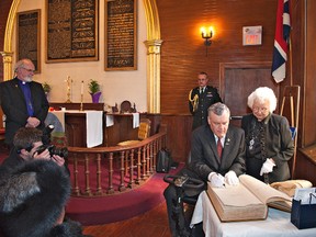
<instances>
[{"instance_id":1,"label":"bearded man in purple clerical shirt standing with hands clasped","mask_svg":"<svg viewBox=\"0 0 316 237\"><path fill-rule=\"evenodd\" d=\"M0 103L5 114L4 142L10 147L20 127L45 127L49 104L42 84L33 81L34 70L30 59L21 59L14 66L15 77L0 83Z\"/></svg>"}]
</instances>

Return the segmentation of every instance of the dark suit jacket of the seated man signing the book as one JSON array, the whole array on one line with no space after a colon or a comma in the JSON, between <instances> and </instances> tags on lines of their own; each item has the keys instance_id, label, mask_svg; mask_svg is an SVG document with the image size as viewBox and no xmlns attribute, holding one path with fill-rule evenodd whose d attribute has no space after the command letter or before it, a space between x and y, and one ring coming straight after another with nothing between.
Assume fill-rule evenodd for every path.
<instances>
[{"instance_id":1,"label":"dark suit jacket of the seated man signing the book","mask_svg":"<svg viewBox=\"0 0 316 237\"><path fill-rule=\"evenodd\" d=\"M244 131L229 125L221 160L210 126L204 125L193 131L189 168L205 182L211 172L218 172L222 176L229 170L234 170L237 176L245 173Z\"/></svg>"}]
</instances>

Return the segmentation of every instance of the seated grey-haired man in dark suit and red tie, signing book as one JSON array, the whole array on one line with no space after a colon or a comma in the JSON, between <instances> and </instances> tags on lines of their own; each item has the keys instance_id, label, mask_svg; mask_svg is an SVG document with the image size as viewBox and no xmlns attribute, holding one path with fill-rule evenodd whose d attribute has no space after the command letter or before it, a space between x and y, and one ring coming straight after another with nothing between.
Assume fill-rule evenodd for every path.
<instances>
[{"instance_id":1,"label":"seated grey-haired man in dark suit and red tie, signing book","mask_svg":"<svg viewBox=\"0 0 316 237\"><path fill-rule=\"evenodd\" d=\"M214 187L237 185L238 176L246 172L245 134L229 126L230 111L218 102L207 110L207 125L192 133L191 161L170 181L163 195L167 202L169 227L172 237L193 236L183 213L183 198L198 196ZM195 184L195 189L194 189Z\"/></svg>"}]
</instances>

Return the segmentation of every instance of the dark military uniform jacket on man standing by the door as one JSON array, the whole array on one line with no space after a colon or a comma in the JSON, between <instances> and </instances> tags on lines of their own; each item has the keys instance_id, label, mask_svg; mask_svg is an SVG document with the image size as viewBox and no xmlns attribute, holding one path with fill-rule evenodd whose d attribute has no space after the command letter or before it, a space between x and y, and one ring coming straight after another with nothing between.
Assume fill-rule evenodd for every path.
<instances>
[{"instance_id":1,"label":"dark military uniform jacket on man standing by the door","mask_svg":"<svg viewBox=\"0 0 316 237\"><path fill-rule=\"evenodd\" d=\"M194 88L191 93L191 100L194 98L195 94L199 95L199 106L196 111L193 112L193 106L189 101L189 110L190 113L193 115L192 129L201 125L207 124L207 109L216 102L222 102L217 89L211 86L206 86L204 93L201 94L200 88Z\"/></svg>"}]
</instances>

